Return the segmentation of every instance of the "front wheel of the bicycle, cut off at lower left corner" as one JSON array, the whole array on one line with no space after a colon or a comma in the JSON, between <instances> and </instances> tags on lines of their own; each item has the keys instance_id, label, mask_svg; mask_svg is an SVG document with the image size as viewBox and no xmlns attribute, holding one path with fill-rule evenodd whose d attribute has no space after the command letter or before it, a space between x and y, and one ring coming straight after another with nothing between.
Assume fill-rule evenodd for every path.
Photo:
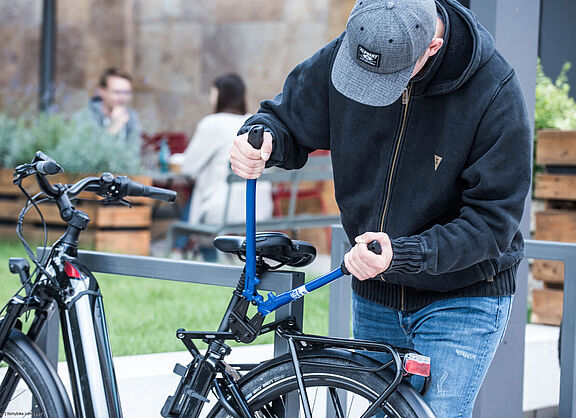
<instances>
[{"instance_id":1,"label":"front wheel of the bicycle, cut off at lower left corner","mask_svg":"<svg viewBox=\"0 0 576 418\"><path fill-rule=\"evenodd\" d=\"M10 373L20 377L13 391L5 380ZM0 351L1 415L73 417L69 400L62 398L62 381L54 376L46 356L21 332L13 330Z\"/></svg>"}]
</instances>

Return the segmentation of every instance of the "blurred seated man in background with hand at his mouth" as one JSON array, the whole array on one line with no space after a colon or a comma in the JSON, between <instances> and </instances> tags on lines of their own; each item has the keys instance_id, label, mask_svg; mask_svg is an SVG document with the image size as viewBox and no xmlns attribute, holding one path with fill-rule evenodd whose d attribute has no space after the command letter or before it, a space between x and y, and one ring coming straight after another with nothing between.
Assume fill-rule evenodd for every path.
<instances>
[{"instance_id":1,"label":"blurred seated man in background with hand at his mouth","mask_svg":"<svg viewBox=\"0 0 576 418\"><path fill-rule=\"evenodd\" d=\"M117 68L107 68L100 76L96 95L88 106L74 115L80 122L94 122L126 142L140 154L142 127L134 109L128 107L132 100L132 77Z\"/></svg>"}]
</instances>

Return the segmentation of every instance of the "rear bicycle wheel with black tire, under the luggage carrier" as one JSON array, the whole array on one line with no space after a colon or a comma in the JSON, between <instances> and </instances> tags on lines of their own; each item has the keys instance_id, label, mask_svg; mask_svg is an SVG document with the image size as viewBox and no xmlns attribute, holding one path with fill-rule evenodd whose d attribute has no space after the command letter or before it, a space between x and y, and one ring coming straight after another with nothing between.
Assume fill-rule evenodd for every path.
<instances>
[{"instance_id":1,"label":"rear bicycle wheel with black tire, under the luggage carrier","mask_svg":"<svg viewBox=\"0 0 576 418\"><path fill-rule=\"evenodd\" d=\"M303 366L304 384L307 388L309 403L314 418L326 416L326 404L333 407L337 402L333 396L333 389L340 393L346 391L354 396L345 403L340 397L340 414L335 416L359 417L368 408L380 393L390 384L382 374L358 370L358 362L339 357L314 357L314 365ZM342 366L346 367L343 368ZM298 414L287 410L284 399L290 393L298 396L298 383L294 373L294 366L290 361L276 364L254 374L246 376L240 384L242 393L248 401L251 412L257 417L297 417ZM319 393L320 392L320 393ZM338 392L336 392L338 394ZM329 398L330 396L330 398ZM298 398L299 403L301 401ZM318 401L320 401L318 403ZM329 401L329 402L328 402ZM358 404L360 402L360 405ZM346 405L345 407L343 405ZM314 407L314 408L312 408ZM377 416L395 418L417 418L417 407L403 394L394 391L382 407L382 413ZM424 416L433 416L431 411ZM221 405L216 405L209 415L214 418L229 416ZM304 416L300 405L300 416Z\"/></svg>"}]
</instances>

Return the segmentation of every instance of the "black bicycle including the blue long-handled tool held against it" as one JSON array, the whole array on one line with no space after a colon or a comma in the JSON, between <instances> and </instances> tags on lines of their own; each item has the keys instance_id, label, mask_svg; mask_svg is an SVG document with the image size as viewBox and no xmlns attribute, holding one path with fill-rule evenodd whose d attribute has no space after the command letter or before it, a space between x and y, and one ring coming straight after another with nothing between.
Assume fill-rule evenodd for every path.
<instances>
[{"instance_id":1,"label":"black bicycle including the blue long-handled tool held against it","mask_svg":"<svg viewBox=\"0 0 576 418\"><path fill-rule=\"evenodd\" d=\"M257 141L261 132L251 132ZM128 196L148 196L174 201L169 190L143 186L127 177L105 173L73 185L50 184L47 175L60 166L38 152L30 164L16 168L14 183L21 186L34 175L41 193L30 197L17 222L17 233L35 265L30 272L25 259L10 259L10 270L20 277L21 290L4 307L0 321L0 415L29 414L46 417L121 417L102 295L93 274L77 259L78 238L89 218L72 200L82 191L104 197L104 202L125 201ZM255 233L255 181L248 183L247 236L215 239L221 251L246 262L244 273L217 331L180 329L192 355L187 366L176 365L181 380L169 396L164 417L433 417L422 393L407 382L413 374L429 375L429 359L414 351L384 343L330 338L302 333L294 318L265 323L268 313L346 274L342 266L307 284L267 299L258 293L258 277L280 266L302 267L312 262L316 250L303 241L277 232ZM21 187L22 188L22 187ZM25 192L25 190L22 188ZM48 257L38 260L22 236L24 215L43 200L56 202L67 223ZM374 251L378 251L376 245ZM273 265L272 265L273 264ZM254 305L257 312L249 315ZM73 406L53 366L36 340L46 321L58 308ZM32 315L23 332L20 318ZM289 353L260 364L229 365L232 348L227 341L250 343L259 335L276 332ZM201 352L194 340L207 343ZM370 352L388 353L380 363Z\"/></svg>"}]
</instances>

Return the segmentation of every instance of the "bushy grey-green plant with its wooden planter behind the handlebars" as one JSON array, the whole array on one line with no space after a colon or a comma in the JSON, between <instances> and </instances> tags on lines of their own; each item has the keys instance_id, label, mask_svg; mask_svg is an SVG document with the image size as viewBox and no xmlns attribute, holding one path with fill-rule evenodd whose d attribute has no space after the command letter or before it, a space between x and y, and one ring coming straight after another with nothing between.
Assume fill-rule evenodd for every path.
<instances>
[{"instance_id":1,"label":"bushy grey-green plant with its wooden planter behind the handlebars","mask_svg":"<svg viewBox=\"0 0 576 418\"><path fill-rule=\"evenodd\" d=\"M105 171L128 174L135 178L133 175L141 172L139 155L130 153L115 136L94 124L68 120L56 113L25 114L19 117L0 113L0 167L3 167L0 170L0 221L4 221L7 237L14 236L13 224L24 204L20 191L12 184L14 167L30 162L37 150L54 158L65 170L62 174L52 176L52 182L73 183L79 178L99 175ZM26 190L35 193L35 180L27 180ZM135 180L147 184L151 182L143 176ZM85 194L85 197L95 198L93 194ZM132 201L142 202L137 199ZM77 202L77 206L92 219L91 231L84 234L84 246L97 250L148 253L150 206L129 209L94 205L86 201ZM54 231L54 235L59 234L61 230L58 225L62 223L56 208L44 206L43 213L46 222L51 225L49 231ZM39 216L31 214L27 220L31 240L40 241L43 229Z\"/></svg>"}]
</instances>

